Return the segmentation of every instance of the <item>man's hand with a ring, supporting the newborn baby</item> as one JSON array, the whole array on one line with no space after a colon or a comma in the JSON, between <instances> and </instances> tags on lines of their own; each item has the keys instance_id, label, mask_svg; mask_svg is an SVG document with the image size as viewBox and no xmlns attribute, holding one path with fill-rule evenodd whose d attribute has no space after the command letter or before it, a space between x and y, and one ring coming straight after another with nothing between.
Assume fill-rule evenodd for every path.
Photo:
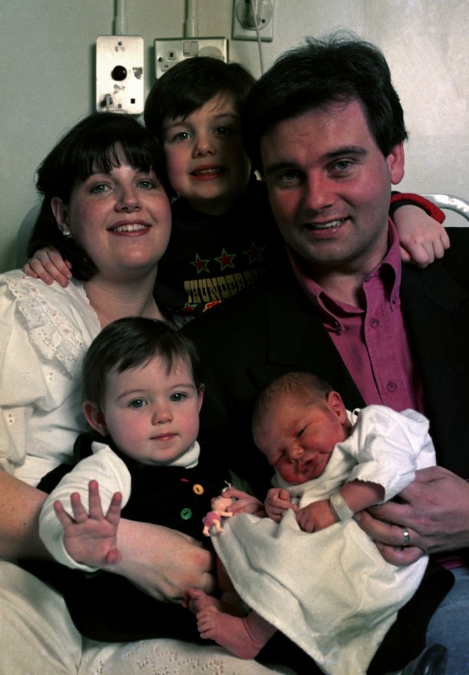
<instances>
[{"instance_id":1,"label":"man's hand with a ring, supporting the newborn baby","mask_svg":"<svg viewBox=\"0 0 469 675\"><path fill-rule=\"evenodd\" d=\"M469 546L469 483L463 478L439 466L420 469L399 497L403 503L389 501L354 516L388 563L410 565L428 553Z\"/></svg>"}]
</instances>

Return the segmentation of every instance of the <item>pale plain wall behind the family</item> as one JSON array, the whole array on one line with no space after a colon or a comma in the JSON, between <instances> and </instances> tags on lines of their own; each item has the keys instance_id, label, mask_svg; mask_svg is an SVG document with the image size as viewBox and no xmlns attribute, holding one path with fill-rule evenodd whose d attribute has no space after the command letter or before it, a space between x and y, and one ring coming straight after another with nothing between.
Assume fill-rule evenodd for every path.
<instances>
[{"instance_id":1,"label":"pale plain wall behind the family","mask_svg":"<svg viewBox=\"0 0 469 675\"><path fill-rule=\"evenodd\" d=\"M199 0L200 36L231 37L233 0ZM127 0L129 34L182 37L185 0ZM34 170L94 108L94 44L113 33L114 0L0 0L0 271L16 266L18 229L36 202ZM304 35L354 30L385 52L411 139L401 188L469 198L469 0L276 0L266 68ZM257 43L231 60L260 74Z\"/></svg>"}]
</instances>

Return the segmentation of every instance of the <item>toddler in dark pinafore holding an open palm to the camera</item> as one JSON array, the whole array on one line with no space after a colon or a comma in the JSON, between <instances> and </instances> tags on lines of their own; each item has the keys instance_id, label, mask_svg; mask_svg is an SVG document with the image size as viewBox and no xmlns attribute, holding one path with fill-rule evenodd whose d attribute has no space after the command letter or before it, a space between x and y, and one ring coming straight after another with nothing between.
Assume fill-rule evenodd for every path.
<instances>
[{"instance_id":1,"label":"toddler in dark pinafore holding an open palm to the camera","mask_svg":"<svg viewBox=\"0 0 469 675\"><path fill-rule=\"evenodd\" d=\"M91 343L83 383L84 415L99 440L79 437L75 449L84 458L41 512L44 543L73 570L54 565L50 578L86 637L197 640L181 605L158 603L127 579L103 572L120 561L121 504L129 520L165 525L200 541L211 497L232 480L224 465L200 455L203 383L195 347L166 323L121 319ZM41 487L52 480L49 475ZM244 498L238 508L257 509L255 498Z\"/></svg>"}]
</instances>

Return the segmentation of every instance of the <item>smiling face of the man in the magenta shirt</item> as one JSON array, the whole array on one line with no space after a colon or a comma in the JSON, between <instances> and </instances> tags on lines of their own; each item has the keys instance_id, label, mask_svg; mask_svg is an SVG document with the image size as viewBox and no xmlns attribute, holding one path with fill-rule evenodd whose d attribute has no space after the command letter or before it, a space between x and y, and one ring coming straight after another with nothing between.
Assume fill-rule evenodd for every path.
<instances>
[{"instance_id":1,"label":"smiling face of the man in the magenta shirt","mask_svg":"<svg viewBox=\"0 0 469 675\"><path fill-rule=\"evenodd\" d=\"M261 153L274 217L311 271L366 274L379 264L404 150L399 143L383 157L359 101L279 122L262 137Z\"/></svg>"}]
</instances>

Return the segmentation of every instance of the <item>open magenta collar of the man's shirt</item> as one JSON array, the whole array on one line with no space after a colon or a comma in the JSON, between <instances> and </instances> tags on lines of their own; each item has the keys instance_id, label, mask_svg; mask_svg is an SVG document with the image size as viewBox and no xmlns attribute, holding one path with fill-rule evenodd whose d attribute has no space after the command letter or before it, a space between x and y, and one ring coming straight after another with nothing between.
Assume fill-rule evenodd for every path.
<instances>
[{"instance_id":1,"label":"open magenta collar of the man's shirt","mask_svg":"<svg viewBox=\"0 0 469 675\"><path fill-rule=\"evenodd\" d=\"M401 285L401 252L397 230L391 219L388 220L388 228L389 246L387 253L380 264L368 274L364 281L364 286L367 281L378 275L382 275L386 295L385 300L390 305L390 309L394 310L398 304L399 288ZM342 333L345 327L340 320L341 317L347 314L362 314L364 310L352 307L352 305L345 302L334 300L333 297L327 295L323 288L309 276L309 272L302 263L301 257L288 244L287 251L298 283L300 283L304 293L309 297L314 307L319 310L325 325L330 330Z\"/></svg>"}]
</instances>

